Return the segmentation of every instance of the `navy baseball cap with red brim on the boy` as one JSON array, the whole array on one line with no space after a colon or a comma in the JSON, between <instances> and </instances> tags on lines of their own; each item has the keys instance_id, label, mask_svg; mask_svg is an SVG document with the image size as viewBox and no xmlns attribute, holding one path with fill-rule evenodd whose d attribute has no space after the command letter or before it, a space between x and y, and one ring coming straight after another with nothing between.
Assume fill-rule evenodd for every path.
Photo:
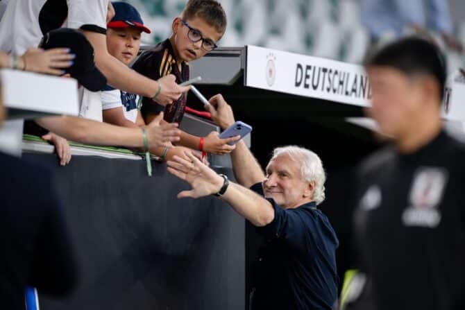
<instances>
[{"instance_id":1,"label":"navy baseball cap with red brim on the boy","mask_svg":"<svg viewBox=\"0 0 465 310\"><path fill-rule=\"evenodd\" d=\"M139 12L126 2L112 2L115 8L115 17L107 24L108 28L140 28L144 33L151 33L150 29L144 26L144 21L140 17Z\"/></svg>"}]
</instances>

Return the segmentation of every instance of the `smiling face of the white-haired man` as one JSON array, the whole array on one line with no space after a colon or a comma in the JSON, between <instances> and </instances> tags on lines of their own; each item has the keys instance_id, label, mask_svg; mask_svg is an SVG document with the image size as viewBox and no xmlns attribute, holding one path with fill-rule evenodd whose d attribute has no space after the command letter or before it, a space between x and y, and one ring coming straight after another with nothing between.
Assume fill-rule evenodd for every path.
<instances>
[{"instance_id":1,"label":"smiling face of the white-haired man","mask_svg":"<svg viewBox=\"0 0 465 310\"><path fill-rule=\"evenodd\" d=\"M301 164L288 155L279 155L267 166L264 196L284 208L293 208L313 198L314 185L302 180Z\"/></svg>"}]
</instances>

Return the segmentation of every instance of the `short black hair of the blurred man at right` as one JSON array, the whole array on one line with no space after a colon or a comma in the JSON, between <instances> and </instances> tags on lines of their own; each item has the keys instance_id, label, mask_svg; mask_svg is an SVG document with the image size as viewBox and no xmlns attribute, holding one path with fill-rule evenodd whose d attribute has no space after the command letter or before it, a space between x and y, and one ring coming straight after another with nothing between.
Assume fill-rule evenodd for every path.
<instances>
[{"instance_id":1,"label":"short black hair of the blurred man at right","mask_svg":"<svg viewBox=\"0 0 465 310\"><path fill-rule=\"evenodd\" d=\"M446 60L437 44L421 37L404 37L367 53L364 67L398 69L407 76L428 74L437 79L441 98L446 84Z\"/></svg>"}]
</instances>

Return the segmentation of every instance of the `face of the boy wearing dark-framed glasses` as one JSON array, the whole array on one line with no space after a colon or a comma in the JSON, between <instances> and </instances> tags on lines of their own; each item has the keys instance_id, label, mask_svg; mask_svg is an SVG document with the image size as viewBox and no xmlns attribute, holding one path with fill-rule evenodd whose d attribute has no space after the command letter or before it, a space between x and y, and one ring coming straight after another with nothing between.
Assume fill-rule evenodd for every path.
<instances>
[{"instance_id":1,"label":"face of the boy wearing dark-framed glasses","mask_svg":"<svg viewBox=\"0 0 465 310\"><path fill-rule=\"evenodd\" d=\"M187 19L185 22L193 28L193 31L198 31L198 33L205 39L211 40L213 43L217 43L221 39L222 33L218 33L217 30L207 24L206 21L199 17L194 17L193 19ZM174 49L180 60L189 62L203 57L207 51L202 49L202 40L198 42L192 42L187 34L189 33L189 28L183 24L183 21L179 17L173 21L173 33L174 33Z\"/></svg>"}]
</instances>

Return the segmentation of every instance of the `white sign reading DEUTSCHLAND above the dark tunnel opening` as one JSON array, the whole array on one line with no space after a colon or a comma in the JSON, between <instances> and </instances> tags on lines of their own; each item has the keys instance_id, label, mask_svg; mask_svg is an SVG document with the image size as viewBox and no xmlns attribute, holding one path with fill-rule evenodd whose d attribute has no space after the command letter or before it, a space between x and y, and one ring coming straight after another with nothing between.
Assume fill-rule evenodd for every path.
<instances>
[{"instance_id":1,"label":"white sign reading DEUTSCHLAND above the dark tunnel opening","mask_svg":"<svg viewBox=\"0 0 465 310\"><path fill-rule=\"evenodd\" d=\"M246 86L369 106L364 68L336 60L246 46Z\"/></svg>"}]
</instances>

